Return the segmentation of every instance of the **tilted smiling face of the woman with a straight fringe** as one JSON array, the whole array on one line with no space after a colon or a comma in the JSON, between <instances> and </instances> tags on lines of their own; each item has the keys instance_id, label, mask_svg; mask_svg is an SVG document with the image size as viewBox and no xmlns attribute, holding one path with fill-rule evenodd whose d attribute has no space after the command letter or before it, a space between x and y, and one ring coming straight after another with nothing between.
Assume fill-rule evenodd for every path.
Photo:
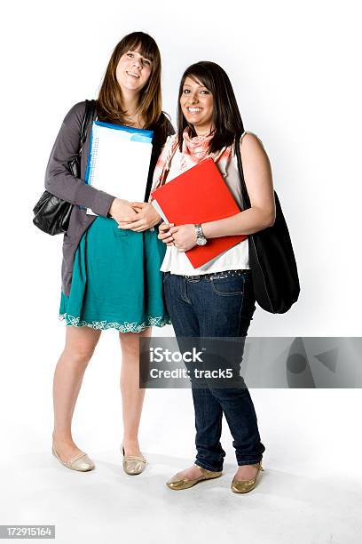
<instances>
[{"instance_id":1,"label":"tilted smiling face of the woman with a straight fringe","mask_svg":"<svg viewBox=\"0 0 362 544\"><path fill-rule=\"evenodd\" d=\"M138 94L146 85L152 72L152 62L138 51L139 47L122 54L115 77L123 92Z\"/></svg>"}]
</instances>

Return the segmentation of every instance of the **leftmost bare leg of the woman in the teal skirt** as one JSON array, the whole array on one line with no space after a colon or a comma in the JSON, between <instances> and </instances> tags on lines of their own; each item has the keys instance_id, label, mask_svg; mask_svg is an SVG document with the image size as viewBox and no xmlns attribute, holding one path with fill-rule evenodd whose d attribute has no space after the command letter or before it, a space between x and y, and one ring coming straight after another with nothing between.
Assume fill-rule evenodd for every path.
<instances>
[{"instance_id":1,"label":"leftmost bare leg of the woman in the teal skirt","mask_svg":"<svg viewBox=\"0 0 362 544\"><path fill-rule=\"evenodd\" d=\"M66 346L54 372L53 446L61 460L67 462L82 452L72 437L72 418L82 386L83 375L100 337L90 327L67 326Z\"/></svg>"}]
</instances>

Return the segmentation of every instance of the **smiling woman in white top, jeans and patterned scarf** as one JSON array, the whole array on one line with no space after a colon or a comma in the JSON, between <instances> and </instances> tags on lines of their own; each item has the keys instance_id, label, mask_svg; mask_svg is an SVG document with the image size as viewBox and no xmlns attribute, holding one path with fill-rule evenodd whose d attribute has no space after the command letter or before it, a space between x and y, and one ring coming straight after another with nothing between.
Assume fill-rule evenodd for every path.
<instances>
[{"instance_id":1,"label":"smiling woman in white top, jeans and patterned scarf","mask_svg":"<svg viewBox=\"0 0 362 544\"><path fill-rule=\"evenodd\" d=\"M235 143L236 142L236 143ZM262 142L244 132L229 77L214 62L198 62L185 70L178 95L178 132L162 151L153 188L211 156L241 209L240 178L234 146L240 146L251 208L224 220L202 225L161 224L167 244L161 270L169 316L177 338L245 338L253 317L255 296L248 262L248 237L200 268L185 252L217 236L249 235L275 220L271 166ZM238 368L240 372L240 366ZM238 372L238 373L239 373ZM240 379L240 377L239 377ZM240 379L242 380L242 379ZM232 492L249 492L262 470L265 450L248 388L215 388L208 380L192 380L197 456L193 467L174 476L169 488L182 490L221 476L220 444L223 413L233 437L238 463Z\"/></svg>"}]
</instances>

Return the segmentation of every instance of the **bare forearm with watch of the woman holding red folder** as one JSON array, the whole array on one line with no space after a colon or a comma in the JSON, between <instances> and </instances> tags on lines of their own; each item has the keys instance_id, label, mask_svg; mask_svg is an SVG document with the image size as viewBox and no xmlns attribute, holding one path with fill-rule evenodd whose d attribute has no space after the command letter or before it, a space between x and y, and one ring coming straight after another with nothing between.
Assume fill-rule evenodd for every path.
<instances>
[{"instance_id":1,"label":"bare forearm with watch of the woman holding red folder","mask_svg":"<svg viewBox=\"0 0 362 544\"><path fill-rule=\"evenodd\" d=\"M271 227L274 219L273 211L267 212L260 208L252 207L223 220L202 223L202 230L206 238L241 234L249 235Z\"/></svg>"}]
</instances>

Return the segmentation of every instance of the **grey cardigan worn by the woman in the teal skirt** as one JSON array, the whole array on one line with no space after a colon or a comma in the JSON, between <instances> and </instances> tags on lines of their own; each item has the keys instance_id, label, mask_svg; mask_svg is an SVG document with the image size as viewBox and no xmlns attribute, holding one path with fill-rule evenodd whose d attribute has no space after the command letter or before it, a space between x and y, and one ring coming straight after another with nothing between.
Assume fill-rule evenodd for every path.
<instances>
[{"instance_id":1,"label":"grey cardigan worn by the woman in the teal skirt","mask_svg":"<svg viewBox=\"0 0 362 544\"><path fill-rule=\"evenodd\" d=\"M69 220L69 228L63 239L63 262L61 267L61 289L67 296L72 283L73 264L75 252L83 233L96 219L95 215L87 215L84 209L79 206L91 208L98 215L107 216L109 208L115 196L87 185L84 181L84 173L87 166L88 150L91 138L91 131L87 134L87 140L83 146L81 160L81 179L69 172L68 163L79 153L80 134L83 116L85 112L85 100L78 102L65 116L60 127L59 134L53 148L45 172L45 188L55 196L75 204ZM164 114L162 114L163 116ZM161 153L164 140L169 134L174 133L172 124L168 120L168 134L161 136L157 133L157 126L151 127L154 130L153 153L151 156L150 170L148 173L146 197L152 183L153 170L157 158ZM117 195L122 198L122 194Z\"/></svg>"}]
</instances>

